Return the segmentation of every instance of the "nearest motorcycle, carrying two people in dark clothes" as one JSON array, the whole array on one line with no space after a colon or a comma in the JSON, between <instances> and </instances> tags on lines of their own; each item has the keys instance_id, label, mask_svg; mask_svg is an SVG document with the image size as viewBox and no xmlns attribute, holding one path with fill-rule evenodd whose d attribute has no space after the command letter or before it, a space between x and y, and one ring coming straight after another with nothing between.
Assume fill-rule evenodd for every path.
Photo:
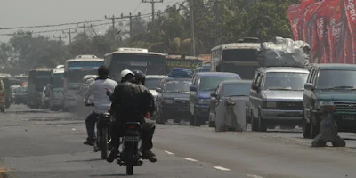
<instances>
[{"instance_id":1,"label":"nearest motorcycle, carrying two people in dark clothes","mask_svg":"<svg viewBox=\"0 0 356 178\"><path fill-rule=\"evenodd\" d=\"M134 174L134 166L142 166L141 154L142 128L139 122L128 122L124 125L122 150L117 158L117 164L126 166L126 174Z\"/></svg>"}]
</instances>

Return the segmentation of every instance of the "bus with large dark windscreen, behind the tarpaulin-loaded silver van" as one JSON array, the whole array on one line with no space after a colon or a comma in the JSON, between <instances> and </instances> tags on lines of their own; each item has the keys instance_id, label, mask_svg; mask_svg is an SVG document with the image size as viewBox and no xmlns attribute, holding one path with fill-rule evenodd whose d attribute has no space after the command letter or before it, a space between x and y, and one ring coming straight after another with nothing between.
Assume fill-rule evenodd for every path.
<instances>
[{"instance_id":1,"label":"bus with large dark windscreen, behind the tarpaulin-loaded silver van","mask_svg":"<svg viewBox=\"0 0 356 178\"><path fill-rule=\"evenodd\" d=\"M258 69L257 49L260 43L258 39L245 38L239 43L223 44L214 47L210 71L232 72L239 74L243 79L253 79L255 70Z\"/></svg>"}]
</instances>

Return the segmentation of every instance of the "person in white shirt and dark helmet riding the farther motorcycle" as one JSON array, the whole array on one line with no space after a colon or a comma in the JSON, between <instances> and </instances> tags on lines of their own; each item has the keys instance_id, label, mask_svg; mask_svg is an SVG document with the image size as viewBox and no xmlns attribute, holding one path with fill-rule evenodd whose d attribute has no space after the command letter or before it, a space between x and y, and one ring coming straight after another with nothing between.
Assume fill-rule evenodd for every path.
<instances>
[{"instance_id":1,"label":"person in white shirt and dark helmet riding the farther motorcycle","mask_svg":"<svg viewBox=\"0 0 356 178\"><path fill-rule=\"evenodd\" d=\"M95 123L96 120L101 113L107 113L110 106L111 101L109 97L106 95L107 89L114 90L117 86L117 82L109 79L109 69L105 66L101 66L98 69L98 76L95 81L93 81L88 90L85 93L84 103L85 106L89 106L90 104L94 104L93 113L90 114L85 119L86 132L88 137L84 144L93 146L95 143ZM93 103L89 103L89 97L93 96Z\"/></svg>"}]
</instances>

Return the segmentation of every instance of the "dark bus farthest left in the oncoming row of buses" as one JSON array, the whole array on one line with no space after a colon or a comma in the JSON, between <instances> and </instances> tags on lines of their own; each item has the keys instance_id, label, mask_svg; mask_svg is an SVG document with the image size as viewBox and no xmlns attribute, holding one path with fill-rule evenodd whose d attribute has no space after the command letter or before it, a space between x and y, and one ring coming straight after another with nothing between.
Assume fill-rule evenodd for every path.
<instances>
[{"instance_id":1,"label":"dark bus farthest left in the oncoming row of buses","mask_svg":"<svg viewBox=\"0 0 356 178\"><path fill-rule=\"evenodd\" d=\"M44 86L52 84L53 69L31 69L28 72L28 107L39 108L42 104Z\"/></svg>"}]
</instances>

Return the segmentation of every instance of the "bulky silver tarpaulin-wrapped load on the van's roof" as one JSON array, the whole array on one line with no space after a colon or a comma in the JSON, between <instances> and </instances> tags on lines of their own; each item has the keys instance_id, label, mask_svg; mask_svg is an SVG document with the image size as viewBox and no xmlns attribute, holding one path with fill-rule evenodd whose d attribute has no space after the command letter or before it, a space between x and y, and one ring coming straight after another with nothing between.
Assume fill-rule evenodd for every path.
<instances>
[{"instance_id":1,"label":"bulky silver tarpaulin-wrapped load on the van's roof","mask_svg":"<svg viewBox=\"0 0 356 178\"><path fill-rule=\"evenodd\" d=\"M274 37L258 49L258 62L263 67L297 67L309 64L309 44L290 38Z\"/></svg>"}]
</instances>

